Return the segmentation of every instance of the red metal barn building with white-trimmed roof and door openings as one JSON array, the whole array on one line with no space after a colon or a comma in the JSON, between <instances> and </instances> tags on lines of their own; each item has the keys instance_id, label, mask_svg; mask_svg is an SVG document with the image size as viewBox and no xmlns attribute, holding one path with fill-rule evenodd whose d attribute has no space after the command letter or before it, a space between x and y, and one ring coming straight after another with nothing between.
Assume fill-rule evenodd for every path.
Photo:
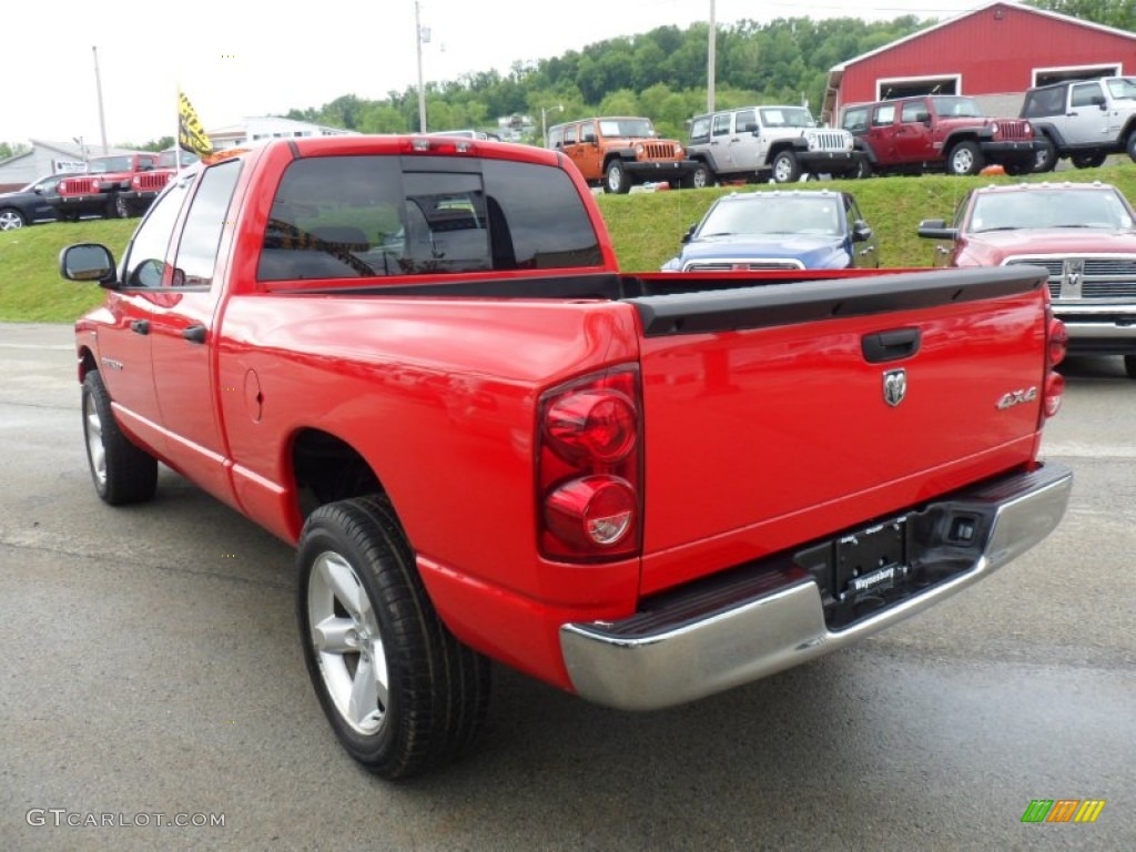
<instances>
[{"instance_id":1,"label":"red metal barn building with white-trimmed roof and door openings","mask_svg":"<svg viewBox=\"0 0 1136 852\"><path fill-rule=\"evenodd\" d=\"M1025 91L1061 80L1136 73L1136 34L1013 2L994 2L828 72L821 120L850 103L967 94L1016 116Z\"/></svg>"}]
</instances>

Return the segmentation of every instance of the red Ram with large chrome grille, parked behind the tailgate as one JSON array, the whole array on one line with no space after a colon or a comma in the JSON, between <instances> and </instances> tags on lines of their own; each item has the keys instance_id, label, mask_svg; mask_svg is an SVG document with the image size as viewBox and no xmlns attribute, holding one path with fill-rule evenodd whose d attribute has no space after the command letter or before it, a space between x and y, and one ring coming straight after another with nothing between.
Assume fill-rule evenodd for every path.
<instances>
[{"instance_id":1,"label":"red Ram with large chrome grille, parked behind the tailgate","mask_svg":"<svg viewBox=\"0 0 1136 852\"><path fill-rule=\"evenodd\" d=\"M1116 186L985 186L962 200L950 227L925 219L919 235L953 241L941 247L947 266L1045 267L1069 351L1124 356L1136 378L1136 212Z\"/></svg>"}]
</instances>

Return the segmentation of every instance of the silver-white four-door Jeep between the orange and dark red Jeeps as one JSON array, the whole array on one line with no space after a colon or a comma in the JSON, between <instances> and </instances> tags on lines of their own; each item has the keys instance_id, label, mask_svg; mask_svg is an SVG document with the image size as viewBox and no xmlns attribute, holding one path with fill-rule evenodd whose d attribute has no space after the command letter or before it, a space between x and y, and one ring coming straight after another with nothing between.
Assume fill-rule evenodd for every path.
<instances>
[{"instance_id":1,"label":"silver-white four-door Jeep between the orange and dark red Jeeps","mask_svg":"<svg viewBox=\"0 0 1136 852\"><path fill-rule=\"evenodd\" d=\"M699 167L695 187L719 179L799 181L807 174L854 176L860 153L852 134L818 127L804 107L743 107L691 119L687 157Z\"/></svg>"}]
</instances>

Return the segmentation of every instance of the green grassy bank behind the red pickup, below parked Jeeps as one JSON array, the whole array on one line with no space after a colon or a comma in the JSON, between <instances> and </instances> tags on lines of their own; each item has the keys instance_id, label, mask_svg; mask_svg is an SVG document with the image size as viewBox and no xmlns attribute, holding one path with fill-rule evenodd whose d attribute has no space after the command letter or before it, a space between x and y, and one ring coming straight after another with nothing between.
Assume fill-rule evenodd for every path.
<instances>
[{"instance_id":1,"label":"green grassy bank behind the red pickup, below parked Jeeps","mask_svg":"<svg viewBox=\"0 0 1136 852\"><path fill-rule=\"evenodd\" d=\"M1059 177L1064 181L1102 181L1116 184L1136 199L1136 169L1127 159L1097 169L1068 170L1056 175L1009 177L885 177L869 181L833 181L808 184L810 189L852 192L880 242L880 262L888 267L932 266L935 243L916 234L920 219L950 218L955 203L972 186L991 183L1031 182ZM780 186L734 186L708 190L600 195L621 268L657 270L673 257L679 237L701 218L710 203L725 193L783 190ZM137 219L52 223L0 233L0 320L69 323L102 300L103 291L59 277L59 251L72 243L100 242L122 257Z\"/></svg>"}]
</instances>

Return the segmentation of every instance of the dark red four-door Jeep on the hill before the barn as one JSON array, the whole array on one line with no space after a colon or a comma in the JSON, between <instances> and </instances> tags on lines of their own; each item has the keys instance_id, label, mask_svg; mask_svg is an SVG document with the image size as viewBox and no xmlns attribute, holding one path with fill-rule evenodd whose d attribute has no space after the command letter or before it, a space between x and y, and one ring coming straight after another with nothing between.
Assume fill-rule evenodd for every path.
<instances>
[{"instance_id":1,"label":"dark red four-door Jeep on the hill before the barn","mask_svg":"<svg viewBox=\"0 0 1136 852\"><path fill-rule=\"evenodd\" d=\"M987 118L974 98L921 94L844 110L841 123L863 152L860 177L922 174L977 175L996 164L1006 174L1034 168L1037 142L1029 122Z\"/></svg>"}]
</instances>

